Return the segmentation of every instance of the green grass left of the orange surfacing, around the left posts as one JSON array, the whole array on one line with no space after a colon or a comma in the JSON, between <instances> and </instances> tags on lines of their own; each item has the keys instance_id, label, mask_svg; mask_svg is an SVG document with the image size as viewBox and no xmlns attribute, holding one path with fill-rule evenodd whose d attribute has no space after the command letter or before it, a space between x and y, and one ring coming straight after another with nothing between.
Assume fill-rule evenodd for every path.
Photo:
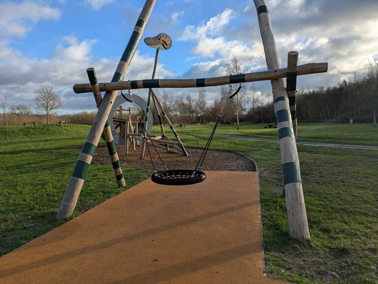
<instances>
[{"instance_id":1,"label":"green grass left of the orange surfacing, around the left posts","mask_svg":"<svg viewBox=\"0 0 378 284\"><path fill-rule=\"evenodd\" d=\"M58 207L90 126L0 126L0 255L59 226ZM128 187L150 176L130 168ZM75 217L120 193L111 165L92 164Z\"/></svg>"}]
</instances>

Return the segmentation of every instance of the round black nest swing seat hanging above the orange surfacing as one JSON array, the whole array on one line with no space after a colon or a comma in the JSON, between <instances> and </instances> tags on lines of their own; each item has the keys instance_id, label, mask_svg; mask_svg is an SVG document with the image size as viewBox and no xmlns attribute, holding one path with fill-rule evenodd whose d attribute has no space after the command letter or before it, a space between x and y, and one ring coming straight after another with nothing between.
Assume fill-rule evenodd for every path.
<instances>
[{"instance_id":1,"label":"round black nest swing seat hanging above the orange surfacing","mask_svg":"<svg viewBox=\"0 0 378 284\"><path fill-rule=\"evenodd\" d=\"M205 179L206 174L199 170L166 170L159 171L151 176L154 183L169 186L192 185L203 182Z\"/></svg>"}]
</instances>

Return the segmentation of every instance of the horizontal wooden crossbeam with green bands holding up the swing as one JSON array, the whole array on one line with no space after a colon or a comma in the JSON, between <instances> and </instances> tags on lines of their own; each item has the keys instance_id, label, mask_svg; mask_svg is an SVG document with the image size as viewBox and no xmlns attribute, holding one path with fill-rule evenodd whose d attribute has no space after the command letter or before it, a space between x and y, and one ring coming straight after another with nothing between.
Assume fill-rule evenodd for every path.
<instances>
[{"instance_id":1,"label":"horizontal wooden crossbeam with green bands holding up the swing","mask_svg":"<svg viewBox=\"0 0 378 284\"><path fill-rule=\"evenodd\" d=\"M308 63L297 67L297 75L327 72L328 63ZM245 73L239 75L221 76L202 79L147 79L134 81L121 81L112 83L98 83L101 92L130 89L149 88L200 88L228 85L230 83L247 83L264 80L275 80L284 78L287 75L287 68ZM75 84L73 91L76 94L92 92L91 84Z\"/></svg>"}]
</instances>

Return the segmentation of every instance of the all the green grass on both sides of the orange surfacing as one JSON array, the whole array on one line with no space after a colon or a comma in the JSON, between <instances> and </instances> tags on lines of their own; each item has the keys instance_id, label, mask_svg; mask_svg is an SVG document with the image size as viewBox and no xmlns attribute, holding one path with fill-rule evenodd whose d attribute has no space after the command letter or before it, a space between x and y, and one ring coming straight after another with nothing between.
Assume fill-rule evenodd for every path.
<instances>
[{"instance_id":1,"label":"all the green grass on both sides of the orange surfacing","mask_svg":"<svg viewBox=\"0 0 378 284\"><path fill-rule=\"evenodd\" d=\"M177 130L210 133L211 127ZM277 137L277 129L249 127L220 126L217 133ZM73 125L0 127L1 254L63 222L55 214L80 153L80 147L67 147L83 145L88 131L89 126ZM298 136L302 141L313 137L316 142L377 145L377 131L371 125L314 124L300 125ZM180 137L191 147L203 147L207 139ZM378 151L298 146L311 240L291 240L279 144L215 137L211 148L243 153L257 164L269 276L301 284L378 283ZM130 168L128 185L150 174ZM91 165L74 215L119 191L111 166Z\"/></svg>"}]
</instances>

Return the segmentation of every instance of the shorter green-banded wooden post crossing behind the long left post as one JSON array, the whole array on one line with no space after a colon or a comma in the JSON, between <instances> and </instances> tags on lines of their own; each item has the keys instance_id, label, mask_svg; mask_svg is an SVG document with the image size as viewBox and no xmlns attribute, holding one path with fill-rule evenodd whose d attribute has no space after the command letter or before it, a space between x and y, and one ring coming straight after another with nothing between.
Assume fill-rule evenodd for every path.
<instances>
[{"instance_id":1,"label":"shorter green-banded wooden post crossing behind the long left post","mask_svg":"<svg viewBox=\"0 0 378 284\"><path fill-rule=\"evenodd\" d=\"M98 87L95 68L88 68L87 74L88 74L89 81L91 82L92 91L93 91L93 95L95 96L97 108L99 108L100 105L101 105L102 97L101 97L101 93L100 93L100 88ZM111 160L112 165L113 165L114 173L116 175L118 187L124 188L124 187L126 187L126 183L125 183L124 176L122 174L120 159L118 158L116 145L114 144L113 134L112 134L112 130L110 129L110 125L109 125L108 120L106 120L103 133L104 133L104 136L105 136L106 145L108 147L110 160Z\"/></svg>"}]
</instances>

